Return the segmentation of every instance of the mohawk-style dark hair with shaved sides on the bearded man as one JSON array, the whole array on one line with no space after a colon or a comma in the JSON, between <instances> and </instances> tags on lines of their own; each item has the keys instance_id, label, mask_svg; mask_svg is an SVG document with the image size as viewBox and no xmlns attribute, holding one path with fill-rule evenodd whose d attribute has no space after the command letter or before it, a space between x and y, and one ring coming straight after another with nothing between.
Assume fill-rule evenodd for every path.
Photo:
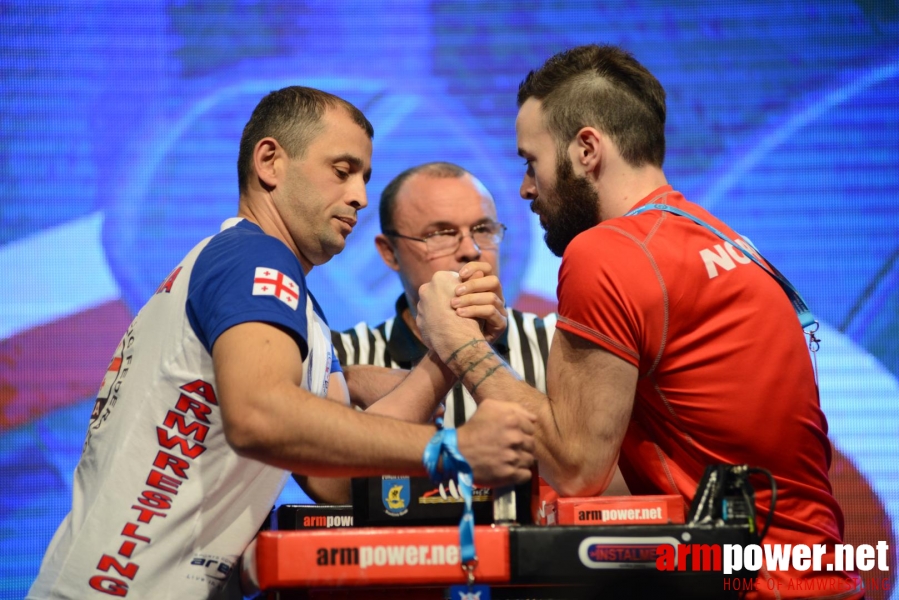
<instances>
[{"instance_id":1,"label":"mohawk-style dark hair with shaved sides on the bearded man","mask_svg":"<svg viewBox=\"0 0 899 600\"><path fill-rule=\"evenodd\" d=\"M560 148L583 127L608 135L628 164L665 160L665 90L646 67L616 46L578 46L531 71L518 87L518 107L540 100Z\"/></svg>"}]
</instances>

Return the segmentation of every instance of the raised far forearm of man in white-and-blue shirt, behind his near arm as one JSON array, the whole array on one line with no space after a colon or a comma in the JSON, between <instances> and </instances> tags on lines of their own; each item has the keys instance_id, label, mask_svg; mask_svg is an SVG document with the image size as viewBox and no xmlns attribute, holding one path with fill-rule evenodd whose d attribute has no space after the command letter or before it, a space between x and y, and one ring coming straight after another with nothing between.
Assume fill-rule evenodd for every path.
<instances>
[{"instance_id":1,"label":"raised far forearm of man in white-and-blue shirt, behind his near arm","mask_svg":"<svg viewBox=\"0 0 899 600\"><path fill-rule=\"evenodd\" d=\"M431 351L409 375L366 412L415 423L427 422L456 382L453 372Z\"/></svg>"}]
</instances>

